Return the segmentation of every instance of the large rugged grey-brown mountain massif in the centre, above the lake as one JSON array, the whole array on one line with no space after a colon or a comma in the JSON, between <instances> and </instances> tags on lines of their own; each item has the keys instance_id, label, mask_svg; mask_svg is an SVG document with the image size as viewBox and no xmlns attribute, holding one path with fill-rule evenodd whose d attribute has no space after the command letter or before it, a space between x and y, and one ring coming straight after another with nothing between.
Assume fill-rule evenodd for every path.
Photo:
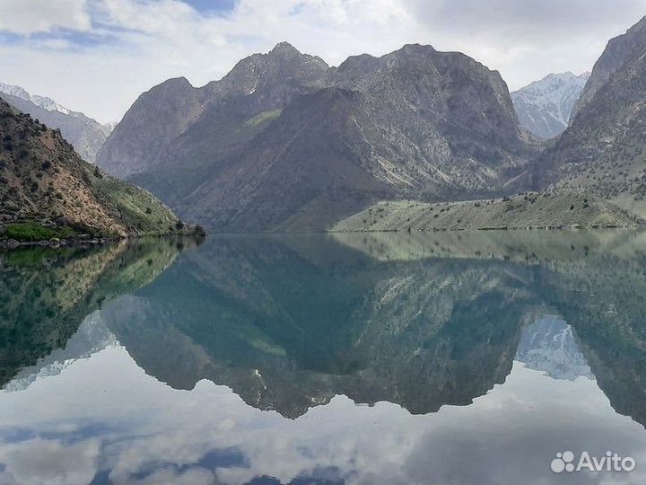
<instances>
[{"instance_id":1,"label":"large rugged grey-brown mountain massif in the centre, above the lake","mask_svg":"<svg viewBox=\"0 0 646 485\"><path fill-rule=\"evenodd\" d=\"M97 163L215 230L307 230L380 198L502 190L533 147L501 76L463 54L328 67L281 43L202 88L142 94Z\"/></svg>"}]
</instances>

